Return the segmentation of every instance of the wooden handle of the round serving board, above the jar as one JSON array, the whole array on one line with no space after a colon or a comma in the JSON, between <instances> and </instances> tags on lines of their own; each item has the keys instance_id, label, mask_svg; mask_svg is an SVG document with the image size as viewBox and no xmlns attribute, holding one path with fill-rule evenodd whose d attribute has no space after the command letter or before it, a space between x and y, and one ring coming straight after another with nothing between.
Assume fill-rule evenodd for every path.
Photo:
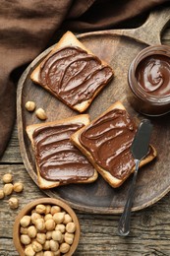
<instances>
[{"instance_id":1,"label":"wooden handle of the round serving board, above the jar","mask_svg":"<svg viewBox=\"0 0 170 256\"><path fill-rule=\"evenodd\" d=\"M123 34L133 36L138 41L149 45L161 44L161 33L170 21L170 7L153 10L144 24L137 29L124 30Z\"/></svg>"}]
</instances>

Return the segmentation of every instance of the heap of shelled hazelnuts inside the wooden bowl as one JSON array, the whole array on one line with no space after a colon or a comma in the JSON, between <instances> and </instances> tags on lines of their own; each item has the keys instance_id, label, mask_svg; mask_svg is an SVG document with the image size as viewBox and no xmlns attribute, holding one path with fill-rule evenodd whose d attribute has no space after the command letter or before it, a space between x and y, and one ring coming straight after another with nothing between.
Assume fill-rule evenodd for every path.
<instances>
[{"instance_id":1,"label":"heap of shelled hazelnuts inside the wooden bowl","mask_svg":"<svg viewBox=\"0 0 170 256\"><path fill-rule=\"evenodd\" d=\"M76 224L62 208L36 205L20 221L21 242L26 255L58 255L69 252Z\"/></svg>"}]
</instances>

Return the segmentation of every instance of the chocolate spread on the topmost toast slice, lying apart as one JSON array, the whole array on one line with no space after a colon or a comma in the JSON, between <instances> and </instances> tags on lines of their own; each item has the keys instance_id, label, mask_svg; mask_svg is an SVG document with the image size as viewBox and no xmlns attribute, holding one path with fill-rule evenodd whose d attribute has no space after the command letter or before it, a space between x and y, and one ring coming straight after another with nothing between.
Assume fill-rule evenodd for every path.
<instances>
[{"instance_id":1,"label":"chocolate spread on the topmost toast slice, lying apart","mask_svg":"<svg viewBox=\"0 0 170 256\"><path fill-rule=\"evenodd\" d=\"M74 106L91 98L113 76L94 55L80 47L67 46L57 50L40 67L40 82L54 95Z\"/></svg>"}]
</instances>

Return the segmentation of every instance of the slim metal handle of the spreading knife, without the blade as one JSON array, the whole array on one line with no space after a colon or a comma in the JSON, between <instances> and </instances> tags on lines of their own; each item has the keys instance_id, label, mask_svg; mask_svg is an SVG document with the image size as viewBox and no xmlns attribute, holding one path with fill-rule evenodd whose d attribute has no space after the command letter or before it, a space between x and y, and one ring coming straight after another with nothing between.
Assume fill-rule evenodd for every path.
<instances>
[{"instance_id":1,"label":"slim metal handle of the spreading knife, without the blade","mask_svg":"<svg viewBox=\"0 0 170 256\"><path fill-rule=\"evenodd\" d=\"M132 208L133 201L134 201L134 190L135 190L135 184L136 184L136 180L137 180L137 174L138 174L138 170L139 170L140 160L135 160L135 162L136 162L136 169L134 172L133 181L132 181L132 184L131 184L129 192L128 192L128 198L127 198L127 202L126 202L126 205L124 208L124 212L121 216L121 219L120 219L119 225L118 225L118 233L121 236L126 236L130 232L131 208Z\"/></svg>"}]
</instances>

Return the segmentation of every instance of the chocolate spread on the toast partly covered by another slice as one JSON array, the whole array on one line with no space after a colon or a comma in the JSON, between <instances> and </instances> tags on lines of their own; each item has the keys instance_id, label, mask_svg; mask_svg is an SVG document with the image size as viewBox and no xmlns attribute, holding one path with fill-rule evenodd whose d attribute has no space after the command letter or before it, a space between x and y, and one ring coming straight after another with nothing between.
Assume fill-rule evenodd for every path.
<instances>
[{"instance_id":1,"label":"chocolate spread on the toast partly covered by another slice","mask_svg":"<svg viewBox=\"0 0 170 256\"><path fill-rule=\"evenodd\" d=\"M70 136L83 126L82 123L70 123L34 130L35 158L44 179L75 183L93 175L93 166L70 142Z\"/></svg>"}]
</instances>

